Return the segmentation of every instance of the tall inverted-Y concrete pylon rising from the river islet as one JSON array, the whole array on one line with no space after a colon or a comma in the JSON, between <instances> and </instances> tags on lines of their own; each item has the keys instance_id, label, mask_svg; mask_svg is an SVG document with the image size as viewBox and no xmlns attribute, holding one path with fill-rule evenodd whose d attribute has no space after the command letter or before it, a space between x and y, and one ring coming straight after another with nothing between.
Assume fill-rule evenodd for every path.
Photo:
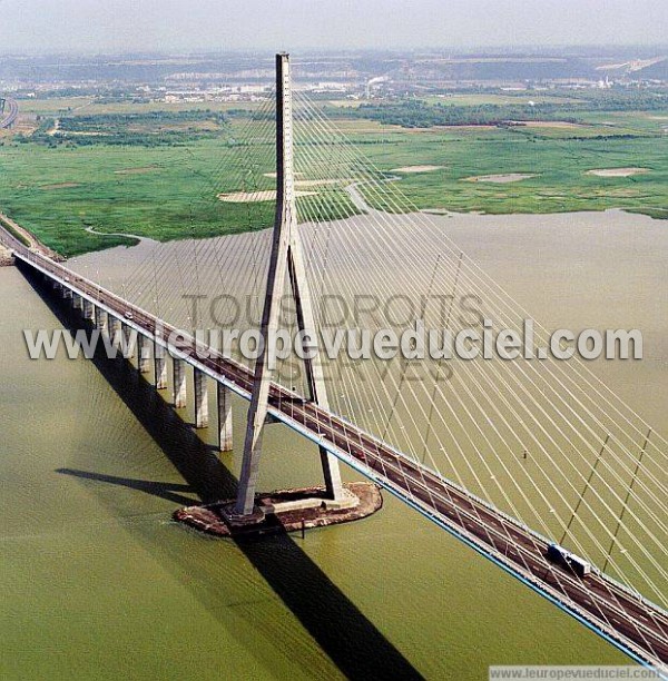
<instances>
[{"instance_id":1,"label":"tall inverted-Y concrete pylon rising from the river islet","mask_svg":"<svg viewBox=\"0 0 668 681\"><path fill-rule=\"evenodd\" d=\"M262 336L265 339L277 329L281 297L288 272L299 330L306 332L311 339L315 340L314 316L297 230L289 58L287 55L276 55L276 215L261 327ZM262 456L262 434L267 416L272 379L267 345L267 343L263 344L263 349L255 364L253 395L244 441L244 460L234 509L234 513L240 516L254 514L255 487ZM308 376L310 397L312 401L326 406L327 397L322 367L311 359L304 362ZM341 500L344 491L338 462L323 450L321 450L321 458L327 496L333 500Z\"/></svg>"}]
</instances>

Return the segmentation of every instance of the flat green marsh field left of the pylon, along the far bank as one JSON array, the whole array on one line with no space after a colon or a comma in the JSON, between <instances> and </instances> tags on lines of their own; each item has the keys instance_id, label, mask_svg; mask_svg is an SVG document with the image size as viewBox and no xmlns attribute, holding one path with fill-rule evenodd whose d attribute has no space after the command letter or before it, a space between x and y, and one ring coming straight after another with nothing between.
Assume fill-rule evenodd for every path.
<instances>
[{"instance_id":1,"label":"flat green marsh field left of the pylon, along the far bank","mask_svg":"<svg viewBox=\"0 0 668 681\"><path fill-rule=\"evenodd\" d=\"M168 240L248 229L248 207L223 205L217 191L220 148L213 140L185 149L165 147L2 149L2 209L47 245L71 256L129 244L86 231L128 233ZM271 182L267 179L267 186ZM254 223L271 224L271 205L250 208Z\"/></svg>"}]
</instances>

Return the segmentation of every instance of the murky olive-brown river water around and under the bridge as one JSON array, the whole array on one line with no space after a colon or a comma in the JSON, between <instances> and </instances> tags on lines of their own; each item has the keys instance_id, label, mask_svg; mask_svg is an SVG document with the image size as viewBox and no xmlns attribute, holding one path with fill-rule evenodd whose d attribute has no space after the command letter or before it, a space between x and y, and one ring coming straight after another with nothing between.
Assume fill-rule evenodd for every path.
<instances>
[{"instance_id":1,"label":"murky olive-brown river water around and under the bridge","mask_svg":"<svg viewBox=\"0 0 668 681\"><path fill-rule=\"evenodd\" d=\"M429 238L448 234L548 328L641 329L641 362L592 371L668 432L667 223L619 211L433 223ZM232 251L255 239L248 268L262 272L266 235L227 239ZM246 285L235 290L207 253L143 243L70 266L188 326L184 290ZM197 261L223 274L196 280ZM22 329L62 326L63 308L14 268L0 283L0 678L485 679L491 664L628 662L387 496L373 517L304 540L239 546L175 525L174 509L233 493L245 405L234 403L235 451L217 455L190 409L175 415L121 363L29 359ZM316 451L284 426L267 428L265 453L263 488L318 478Z\"/></svg>"}]
</instances>

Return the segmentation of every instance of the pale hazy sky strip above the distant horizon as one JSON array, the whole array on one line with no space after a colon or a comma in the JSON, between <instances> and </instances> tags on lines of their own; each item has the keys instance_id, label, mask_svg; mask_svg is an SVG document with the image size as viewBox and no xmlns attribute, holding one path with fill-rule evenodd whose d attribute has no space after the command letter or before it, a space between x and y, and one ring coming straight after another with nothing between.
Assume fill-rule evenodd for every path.
<instances>
[{"instance_id":1,"label":"pale hazy sky strip above the distant horizon","mask_svg":"<svg viewBox=\"0 0 668 681\"><path fill-rule=\"evenodd\" d=\"M0 52L668 41L668 0L0 0Z\"/></svg>"}]
</instances>

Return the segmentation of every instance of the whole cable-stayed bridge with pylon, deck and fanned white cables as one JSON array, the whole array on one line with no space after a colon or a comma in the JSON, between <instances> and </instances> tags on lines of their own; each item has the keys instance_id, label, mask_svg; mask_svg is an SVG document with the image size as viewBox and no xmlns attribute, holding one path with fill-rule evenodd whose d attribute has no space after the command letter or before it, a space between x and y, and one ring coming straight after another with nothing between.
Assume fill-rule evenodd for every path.
<instances>
[{"instance_id":1,"label":"whole cable-stayed bridge with pylon, deck and fanned white cables","mask_svg":"<svg viewBox=\"0 0 668 681\"><path fill-rule=\"evenodd\" d=\"M191 327L183 315L165 320L178 317L173 310L184 290L202 292L196 282L213 288L216 280L229 305L249 296L248 324L266 333L279 323L286 279L294 303L287 324L295 330L332 328L345 316L341 308L355 304L353 323L371 328L399 327L411 315L453 332L482 326L482 318L518 328L528 317L314 102L298 93L293 100L287 58L277 65L275 110L273 102L261 107L248 137L235 139L237 177L224 187L209 178L207 196L218 196L215 207L206 204L222 216L246 211L257 227L273 213L273 231L195 245L191 261L149 248L120 289L102 286L104 274L96 282L6 235L14 256L73 296L108 333L122 325L169 349L177 405L186 397L184 367L191 365L200 426L213 379L223 448L229 447L227 394L250 402L237 517L255 512L262 431L271 416L321 448L334 500L343 461L635 659L665 664L666 441L582 363L479 358L451 372L435 362L419 379L414 366L422 365L401 362L323 359L307 362L305 372L287 363L273 372L262 353L255 365L223 352L203 357L189 333L196 319ZM272 166L275 179L267 177ZM169 335L184 328L189 332L175 348ZM534 333L544 340L544 329ZM154 355L161 388L168 355ZM550 557L553 542L586 560L589 574Z\"/></svg>"}]
</instances>

